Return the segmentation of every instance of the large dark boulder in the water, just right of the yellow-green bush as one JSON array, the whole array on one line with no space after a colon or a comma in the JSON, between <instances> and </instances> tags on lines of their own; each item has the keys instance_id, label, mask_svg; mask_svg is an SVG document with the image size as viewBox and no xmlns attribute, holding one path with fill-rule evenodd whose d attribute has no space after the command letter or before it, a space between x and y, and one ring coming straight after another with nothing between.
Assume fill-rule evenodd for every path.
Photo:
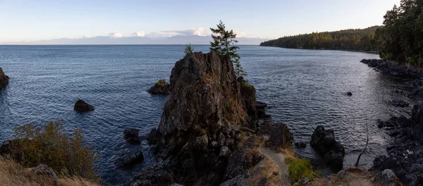
<instances>
[{"instance_id":1,"label":"large dark boulder in the water, just right of the yellow-green bush","mask_svg":"<svg viewBox=\"0 0 423 186\"><path fill-rule=\"evenodd\" d=\"M333 130L325 130L323 126L317 126L312 134L310 145L333 169L339 171L343 168L345 150L341 143L335 140Z\"/></svg>"}]
</instances>

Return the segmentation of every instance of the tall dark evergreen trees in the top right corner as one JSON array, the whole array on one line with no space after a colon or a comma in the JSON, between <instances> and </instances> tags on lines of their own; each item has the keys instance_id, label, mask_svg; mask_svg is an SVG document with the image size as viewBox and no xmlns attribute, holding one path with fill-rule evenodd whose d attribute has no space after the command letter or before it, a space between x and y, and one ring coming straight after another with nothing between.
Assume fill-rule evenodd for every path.
<instances>
[{"instance_id":1,"label":"tall dark evergreen trees in the top right corner","mask_svg":"<svg viewBox=\"0 0 423 186\"><path fill-rule=\"evenodd\" d=\"M384 16L374 47L384 60L423 65L423 0L401 0Z\"/></svg>"}]
</instances>

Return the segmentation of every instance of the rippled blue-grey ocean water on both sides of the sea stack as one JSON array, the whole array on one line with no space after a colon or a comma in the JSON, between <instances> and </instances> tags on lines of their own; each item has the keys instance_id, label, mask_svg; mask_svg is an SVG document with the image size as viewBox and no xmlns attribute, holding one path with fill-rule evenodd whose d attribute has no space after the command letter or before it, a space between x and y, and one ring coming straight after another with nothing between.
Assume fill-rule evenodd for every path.
<instances>
[{"instance_id":1,"label":"rippled blue-grey ocean water on both sides of the sea stack","mask_svg":"<svg viewBox=\"0 0 423 186\"><path fill-rule=\"evenodd\" d=\"M208 46L193 46L209 51ZM166 95L147 90L159 79L169 79L184 46L0 46L0 67L11 78L0 91L0 142L13 137L13 127L43 125L61 120L67 133L82 128L85 142L98 154L97 171L104 182L121 185L130 175L157 160L142 145L128 145L125 128L138 128L146 136L157 127ZM360 166L369 168L384 154L389 140L376 119L408 116L410 108L389 104L407 100L403 80L375 72L360 62L377 55L345 51L297 50L240 46L247 79L257 88L257 99L268 103L276 122L288 124L294 142L309 142L314 128L335 131L353 166L366 142L369 147ZM345 95L351 91L353 96ZM94 105L93 112L73 111L78 98ZM123 170L114 165L119 154L142 148L145 162ZM295 149L300 157L314 158L307 145Z\"/></svg>"}]
</instances>

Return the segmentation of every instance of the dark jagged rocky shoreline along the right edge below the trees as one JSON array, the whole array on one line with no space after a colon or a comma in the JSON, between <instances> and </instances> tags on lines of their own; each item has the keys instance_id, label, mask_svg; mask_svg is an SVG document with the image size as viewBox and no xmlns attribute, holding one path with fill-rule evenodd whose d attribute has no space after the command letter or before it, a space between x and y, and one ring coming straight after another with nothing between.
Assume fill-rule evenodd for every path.
<instances>
[{"instance_id":1,"label":"dark jagged rocky shoreline along the right edge below the trees","mask_svg":"<svg viewBox=\"0 0 423 186\"><path fill-rule=\"evenodd\" d=\"M423 77L422 70L384 60L361 62L394 76L417 78L407 82L412 89L408 97L414 102L412 116L391 117L388 121L377 121L378 127L384 128L391 136L391 141L386 148L388 154L376 157L372 170L381 174L395 173L405 185L423 185L423 80L420 79ZM391 104L408 107L408 103L402 100L393 100Z\"/></svg>"}]
</instances>

